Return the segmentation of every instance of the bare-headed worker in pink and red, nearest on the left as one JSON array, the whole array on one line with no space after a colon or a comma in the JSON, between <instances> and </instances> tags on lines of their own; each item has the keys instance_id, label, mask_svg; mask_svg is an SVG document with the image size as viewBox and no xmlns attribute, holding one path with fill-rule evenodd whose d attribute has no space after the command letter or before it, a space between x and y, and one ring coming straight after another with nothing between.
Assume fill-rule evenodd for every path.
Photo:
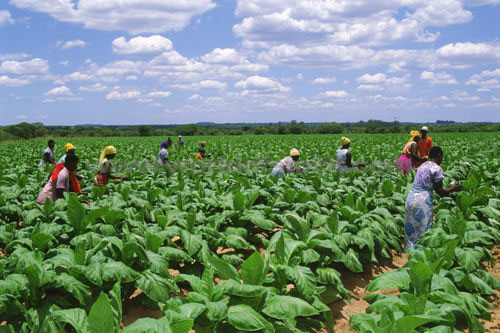
<instances>
[{"instance_id":1,"label":"bare-headed worker in pink and red, nearest on the left","mask_svg":"<svg viewBox=\"0 0 500 333\"><path fill-rule=\"evenodd\" d=\"M78 165L78 156L68 155L64 163L58 163L52 170L47 184L38 195L37 203L43 205L47 198L52 202L64 198L64 192L83 193L78 179L75 176L75 170Z\"/></svg>"}]
</instances>

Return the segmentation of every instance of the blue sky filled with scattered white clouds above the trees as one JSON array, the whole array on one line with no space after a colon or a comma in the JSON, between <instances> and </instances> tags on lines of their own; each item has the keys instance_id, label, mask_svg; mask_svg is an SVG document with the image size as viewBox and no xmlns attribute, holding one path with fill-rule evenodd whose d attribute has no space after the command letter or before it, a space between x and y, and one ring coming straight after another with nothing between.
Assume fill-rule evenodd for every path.
<instances>
[{"instance_id":1,"label":"blue sky filled with scattered white clouds above the trees","mask_svg":"<svg viewBox=\"0 0 500 333\"><path fill-rule=\"evenodd\" d=\"M4 0L0 125L500 121L500 0Z\"/></svg>"}]
</instances>

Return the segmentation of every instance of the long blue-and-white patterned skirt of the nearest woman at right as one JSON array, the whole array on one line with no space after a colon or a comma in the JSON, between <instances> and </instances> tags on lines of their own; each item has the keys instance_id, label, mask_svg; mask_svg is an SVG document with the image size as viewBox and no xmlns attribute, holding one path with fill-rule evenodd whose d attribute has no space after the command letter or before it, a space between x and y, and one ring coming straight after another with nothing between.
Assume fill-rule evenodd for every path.
<instances>
[{"instance_id":1,"label":"long blue-and-white patterned skirt of the nearest woman at right","mask_svg":"<svg viewBox=\"0 0 500 333\"><path fill-rule=\"evenodd\" d=\"M432 190L413 187L405 205L405 251L414 249L423 233L432 228Z\"/></svg>"}]
</instances>

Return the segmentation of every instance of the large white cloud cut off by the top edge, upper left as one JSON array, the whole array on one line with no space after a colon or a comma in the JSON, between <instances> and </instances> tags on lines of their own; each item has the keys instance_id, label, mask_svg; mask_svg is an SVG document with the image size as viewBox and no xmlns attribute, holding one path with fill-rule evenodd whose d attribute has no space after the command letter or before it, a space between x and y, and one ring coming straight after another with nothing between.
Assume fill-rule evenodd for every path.
<instances>
[{"instance_id":1,"label":"large white cloud cut off by the top edge, upper left","mask_svg":"<svg viewBox=\"0 0 500 333\"><path fill-rule=\"evenodd\" d=\"M178 31L216 6L212 0L11 0L10 4L90 29L132 34Z\"/></svg>"}]
</instances>

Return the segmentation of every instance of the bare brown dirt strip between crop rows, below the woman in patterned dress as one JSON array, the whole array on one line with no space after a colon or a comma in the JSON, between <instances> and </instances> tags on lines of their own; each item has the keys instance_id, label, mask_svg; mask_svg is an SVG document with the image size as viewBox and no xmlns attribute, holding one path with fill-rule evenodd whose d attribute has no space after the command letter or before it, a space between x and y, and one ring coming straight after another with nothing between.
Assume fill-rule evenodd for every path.
<instances>
[{"instance_id":1,"label":"bare brown dirt strip between crop rows, below the woman in patterned dress","mask_svg":"<svg viewBox=\"0 0 500 333\"><path fill-rule=\"evenodd\" d=\"M390 259L382 259L379 264L373 264L364 267L363 273L352 273L349 270L342 271L342 281L344 287L349 290L351 296L351 303L345 300L337 301L330 304L330 309L333 311L335 318L335 332L348 332L349 331L349 316L354 313L365 312L368 302L363 300L363 297L369 294L365 287L377 275L385 272L395 271L403 267L408 261L408 256L405 254L398 254L396 251L391 251ZM384 290L385 294L396 293L397 289Z\"/></svg>"}]
</instances>

